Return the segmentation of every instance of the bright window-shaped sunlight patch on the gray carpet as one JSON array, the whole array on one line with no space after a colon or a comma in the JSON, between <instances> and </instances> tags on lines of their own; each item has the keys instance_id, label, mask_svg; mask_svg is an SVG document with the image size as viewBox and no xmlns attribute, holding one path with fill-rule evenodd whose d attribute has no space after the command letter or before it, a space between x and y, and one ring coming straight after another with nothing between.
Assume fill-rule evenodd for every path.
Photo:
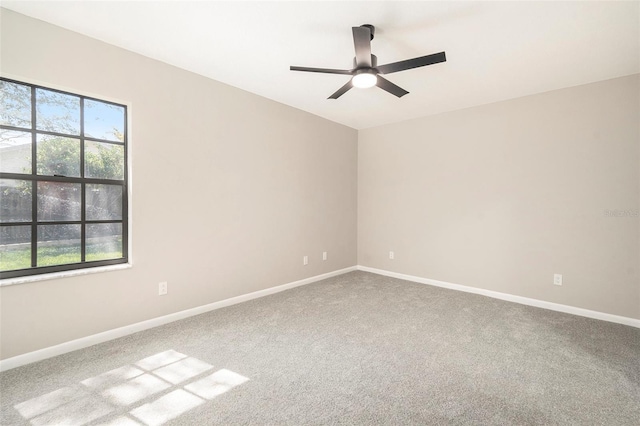
<instances>
[{"instance_id":1,"label":"bright window-shaped sunlight patch on the gray carpet","mask_svg":"<svg viewBox=\"0 0 640 426\"><path fill-rule=\"evenodd\" d=\"M34 426L162 425L249 380L227 369L204 376L211 370L211 364L168 350L14 408Z\"/></svg>"}]
</instances>

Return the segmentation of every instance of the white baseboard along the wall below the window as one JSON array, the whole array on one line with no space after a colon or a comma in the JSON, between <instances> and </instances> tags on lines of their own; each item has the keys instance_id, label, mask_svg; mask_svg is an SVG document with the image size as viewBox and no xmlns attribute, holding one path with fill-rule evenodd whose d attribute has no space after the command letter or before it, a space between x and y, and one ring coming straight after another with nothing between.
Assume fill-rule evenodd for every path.
<instances>
[{"instance_id":1,"label":"white baseboard along the wall below the window","mask_svg":"<svg viewBox=\"0 0 640 426\"><path fill-rule=\"evenodd\" d=\"M117 339L119 337L124 337L129 334L137 333L139 331L148 330L150 328L168 324L173 321L178 321L184 318L192 317L194 315L200 315L205 312L213 311L216 309L220 309L220 308L235 305L238 303L246 302L249 300L257 299L260 297L268 296L270 294L279 293L281 291L289 290L294 287L299 287L305 284L311 284L316 281L346 274L347 272L355 271L356 269L357 269L356 266L351 266L349 268L339 269L333 272L327 272L326 274L316 275L314 277L305 278L303 280L294 281L288 284L266 288L264 290L254 291L253 293L243 294L241 296L232 297L230 299L221 300L219 302L213 302L207 305L198 306L196 308L186 309L184 311L176 312L169 315L164 315L161 317L138 322L135 324L124 326L124 327L115 328L113 330L108 330L102 333L93 334L91 336L82 337L80 339L71 340L69 342L64 342L59 345L50 346L48 348L39 349L37 351L28 352L26 354L0 360L0 372L11 370L12 368L20 367L26 364L31 364L32 362L42 361L44 359L62 355L67 352L72 352L78 349L87 348L89 346L97 345L98 343L107 342L109 340Z\"/></svg>"}]
</instances>

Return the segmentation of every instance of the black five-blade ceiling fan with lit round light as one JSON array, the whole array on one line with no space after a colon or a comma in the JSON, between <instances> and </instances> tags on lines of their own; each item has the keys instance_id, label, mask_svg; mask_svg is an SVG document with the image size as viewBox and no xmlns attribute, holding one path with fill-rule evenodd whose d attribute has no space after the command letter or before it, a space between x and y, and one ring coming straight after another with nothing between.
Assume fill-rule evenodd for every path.
<instances>
[{"instance_id":1,"label":"black five-blade ceiling fan with lit round light","mask_svg":"<svg viewBox=\"0 0 640 426\"><path fill-rule=\"evenodd\" d=\"M404 71L411 68L437 64L447 60L444 52L440 52L378 66L378 58L376 55L371 54L371 40L373 40L375 27L370 24L364 24L359 27L352 27L351 29L353 31L353 44L356 47L356 57L353 58L353 69L336 70L330 68L308 68L296 66L291 66L289 69L291 71L351 75L352 77L347 84L339 88L333 95L329 96L328 99L338 99L354 86L358 88L378 86L382 90L386 90L392 95L396 95L401 98L409 92L383 78L380 74L391 74L393 72Z\"/></svg>"}]
</instances>

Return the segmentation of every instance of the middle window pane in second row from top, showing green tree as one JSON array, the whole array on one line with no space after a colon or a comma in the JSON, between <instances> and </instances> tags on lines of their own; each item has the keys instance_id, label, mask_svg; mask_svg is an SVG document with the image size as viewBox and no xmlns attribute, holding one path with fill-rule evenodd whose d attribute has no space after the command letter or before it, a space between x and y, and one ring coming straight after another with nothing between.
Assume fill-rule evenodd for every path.
<instances>
[{"instance_id":1,"label":"middle window pane in second row from top, showing green tree","mask_svg":"<svg viewBox=\"0 0 640 426\"><path fill-rule=\"evenodd\" d=\"M80 177L80 139L37 136L39 175Z\"/></svg>"}]
</instances>

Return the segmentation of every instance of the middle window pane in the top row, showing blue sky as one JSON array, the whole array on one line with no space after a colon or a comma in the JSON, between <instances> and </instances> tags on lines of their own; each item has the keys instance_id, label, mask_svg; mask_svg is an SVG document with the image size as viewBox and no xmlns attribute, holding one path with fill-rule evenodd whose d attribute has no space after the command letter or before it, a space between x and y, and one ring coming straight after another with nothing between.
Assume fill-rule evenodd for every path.
<instances>
[{"instance_id":1,"label":"middle window pane in the top row, showing blue sky","mask_svg":"<svg viewBox=\"0 0 640 426\"><path fill-rule=\"evenodd\" d=\"M36 89L38 130L80 134L80 98L46 89Z\"/></svg>"}]
</instances>

